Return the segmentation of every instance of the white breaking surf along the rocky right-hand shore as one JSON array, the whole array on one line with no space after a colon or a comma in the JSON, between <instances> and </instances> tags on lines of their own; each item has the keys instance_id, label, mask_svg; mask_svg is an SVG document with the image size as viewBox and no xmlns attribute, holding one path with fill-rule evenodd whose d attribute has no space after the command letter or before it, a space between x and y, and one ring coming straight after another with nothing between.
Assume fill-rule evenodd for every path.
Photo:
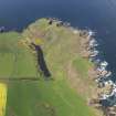
<instances>
[{"instance_id":1,"label":"white breaking surf along the rocky right-hand shore","mask_svg":"<svg viewBox=\"0 0 116 116\"><path fill-rule=\"evenodd\" d=\"M101 95L101 99L107 99L108 97L116 95L116 84L110 80L112 72L106 70L106 67L108 66L108 62L101 61L99 59L95 60L99 51L96 50L96 46L98 46L98 43L95 39L92 38L93 35L95 35L95 32L93 32L92 30L88 30L88 38L91 39L88 44L89 44L89 48L93 49L91 51L92 54L89 56L89 60L95 63L95 65L97 66L96 71L99 72L99 77L95 80L95 82L99 84L99 86L102 85L103 87L107 85L113 86L113 89L112 92L109 92L109 94Z\"/></svg>"}]
</instances>

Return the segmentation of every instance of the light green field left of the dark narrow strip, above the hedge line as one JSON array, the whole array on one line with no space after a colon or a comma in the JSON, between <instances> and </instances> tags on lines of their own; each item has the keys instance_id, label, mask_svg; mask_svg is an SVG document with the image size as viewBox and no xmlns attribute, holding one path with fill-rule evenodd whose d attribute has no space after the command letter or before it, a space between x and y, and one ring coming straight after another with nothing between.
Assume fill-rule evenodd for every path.
<instances>
[{"instance_id":1,"label":"light green field left of the dark narrow strip, above the hedge line","mask_svg":"<svg viewBox=\"0 0 116 116\"><path fill-rule=\"evenodd\" d=\"M32 77L36 75L32 53L19 44L21 39L21 34L17 32L0 34L1 77Z\"/></svg>"}]
</instances>

